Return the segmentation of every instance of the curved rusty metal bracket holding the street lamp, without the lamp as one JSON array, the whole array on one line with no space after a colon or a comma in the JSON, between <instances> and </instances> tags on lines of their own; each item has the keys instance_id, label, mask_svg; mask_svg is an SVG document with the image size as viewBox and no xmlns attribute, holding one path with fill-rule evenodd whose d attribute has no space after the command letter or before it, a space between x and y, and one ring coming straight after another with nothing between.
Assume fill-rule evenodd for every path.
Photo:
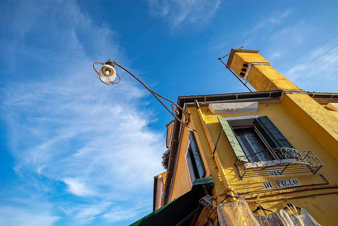
<instances>
[{"instance_id":1,"label":"curved rusty metal bracket holding the street lamp, without the lamp","mask_svg":"<svg viewBox=\"0 0 338 226\"><path fill-rule=\"evenodd\" d=\"M95 64L98 63L98 64L112 64L112 66L114 67L114 65L117 65L119 66L120 68L122 68L123 70L125 70L129 75L131 75L132 77L134 77L137 81L139 81L144 87L146 87L146 89L148 89L148 91L170 112L170 114L172 116L175 117L175 119L177 119L183 126L187 127L188 129L190 130L193 130L196 132L195 129L193 128L190 128L189 126L187 126L185 123L189 123L190 122L190 113L186 110L184 110L182 107L178 106L176 103L172 102L171 100L168 100L167 98L155 93L153 90L151 90L145 83L143 83L140 79L138 79L135 75L131 74L130 71L128 71L127 69L125 69L124 67L122 67L117 61L114 62L114 61L111 61L110 59L107 60L106 63L103 63L103 62L95 62L93 64L93 68L94 70L96 71L97 75L99 76L99 79L101 80L100 78L100 74L98 73L98 71L95 69ZM110 85L110 84L118 84L121 82L121 78L120 76L116 73L116 75L119 77L119 81L118 82L113 82L113 81L110 81L110 83L105 83L101 80L101 82L103 82L104 84L106 85ZM162 98L166 101L169 101L171 103L171 111L169 110L169 108L159 99L159 98ZM175 108L175 107L176 108ZM179 119L176 115L179 115L180 112L182 112L182 119Z\"/></svg>"}]
</instances>

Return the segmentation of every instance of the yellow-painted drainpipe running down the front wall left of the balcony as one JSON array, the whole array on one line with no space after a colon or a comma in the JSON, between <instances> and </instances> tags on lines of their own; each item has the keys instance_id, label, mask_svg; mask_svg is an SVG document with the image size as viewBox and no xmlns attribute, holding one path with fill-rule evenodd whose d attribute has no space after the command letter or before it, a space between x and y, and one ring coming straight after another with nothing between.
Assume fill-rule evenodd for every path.
<instances>
[{"instance_id":1,"label":"yellow-painted drainpipe running down the front wall left of the balcony","mask_svg":"<svg viewBox=\"0 0 338 226\"><path fill-rule=\"evenodd\" d=\"M211 139L211 136L210 136L210 132L208 130L208 127L207 127L207 124L206 124L206 121L204 121L204 118L203 118L203 115L202 115L202 111L201 109L199 108L199 104L197 102L197 100L195 99L194 100L194 103L195 103L195 106L196 106L196 110L197 110L197 114L198 114L198 117L202 123L202 126L203 126L203 130L204 132L206 133L206 136L207 136L207 139L208 139L208 142L209 142L209 146L211 148L211 152L213 152L213 150L215 149L215 145L214 145L214 142L212 141ZM215 152L215 162L216 162L216 165L217 165L217 168L218 168L218 171L220 172L221 174L221 177L222 177L222 181L223 181L223 184L224 184L224 187L225 189L232 189L230 187L230 184L229 184L229 181L228 179L226 178L226 174L225 174L225 171L223 169L223 166L221 164L221 161L219 160L218 158L218 154L217 154L217 150ZM228 190L226 192L227 194L230 194L231 196L235 196L234 195L234 192L232 190ZM236 199L235 198L229 198L228 201L229 202L232 202L232 201L235 201Z\"/></svg>"}]
</instances>

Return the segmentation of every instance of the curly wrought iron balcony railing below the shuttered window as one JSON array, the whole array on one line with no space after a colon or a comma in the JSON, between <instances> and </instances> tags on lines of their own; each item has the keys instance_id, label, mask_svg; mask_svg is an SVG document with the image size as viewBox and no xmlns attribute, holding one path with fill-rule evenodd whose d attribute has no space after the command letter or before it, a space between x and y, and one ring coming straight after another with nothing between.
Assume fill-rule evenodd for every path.
<instances>
[{"instance_id":1,"label":"curly wrought iron balcony railing below the shuttered window","mask_svg":"<svg viewBox=\"0 0 338 226\"><path fill-rule=\"evenodd\" d=\"M312 151L297 151L293 148L272 148L254 155L238 156L235 168L241 180L245 177L267 176L274 173L316 173L322 162Z\"/></svg>"}]
</instances>

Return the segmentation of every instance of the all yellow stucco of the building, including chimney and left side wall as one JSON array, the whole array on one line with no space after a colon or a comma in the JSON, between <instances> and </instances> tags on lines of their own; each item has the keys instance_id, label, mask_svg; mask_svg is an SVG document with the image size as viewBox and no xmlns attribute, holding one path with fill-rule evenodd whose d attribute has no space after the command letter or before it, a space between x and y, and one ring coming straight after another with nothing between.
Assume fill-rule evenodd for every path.
<instances>
[{"instance_id":1,"label":"all yellow stucco of the building, including chimney and left side wall","mask_svg":"<svg viewBox=\"0 0 338 226\"><path fill-rule=\"evenodd\" d=\"M249 62L268 62L259 54L252 53L235 53L231 68L239 75L243 63ZM257 91L268 91L274 89L296 89L298 93L292 93L292 90L284 90L285 94L280 102L259 103L258 111L255 113L237 113L214 115L208 110L208 105L200 105L204 120L206 121L208 130L214 144L218 138L221 125L217 119L219 117L235 117L247 115L268 116L269 119L276 125L277 128L284 134L290 143L298 151L311 150L318 159L323 163L320 170L313 174L311 172L286 174L284 176L256 176L243 178L240 180L234 163L236 160L235 154L227 141L224 134L218 143L217 152L226 173L226 177L230 186L239 192L264 190L262 182L270 181L274 188L278 188L275 180L282 179L297 179L300 185L311 185L325 183L319 177L319 173L330 182L329 185L337 185L338 183L338 112L325 107L326 104L317 103L309 95L301 93L296 85L287 80L283 75L276 71L271 66L254 65L249 73L248 82ZM224 186L221 181L219 171L216 167L215 160L212 158L212 150L208 144L206 133L203 130L202 124L197 115L194 105L188 106L188 111L191 113L191 123L189 126L195 128L194 132L197 145L201 152L204 166L207 170L207 175L212 174L214 179L214 193L223 191ZM189 175L185 160L185 151L187 148L189 130L184 129L182 145L178 153L177 169L174 175L173 189L171 192L170 201L179 197L190 190ZM179 173L178 173L179 172ZM188 186L187 186L188 185ZM291 187L289 187L291 188ZM314 188L314 187L313 187ZM320 188L312 190L300 190L291 193L275 194L273 196L261 197L260 200L307 196L317 193L337 192L338 188ZM224 196L223 196L224 197ZM222 197L220 197L222 199ZM249 207L254 210L257 203L247 198L250 203ZM325 194L315 196L314 198L301 198L289 200L290 203L306 209L321 225L336 225L338 221L338 196L337 194ZM254 205L253 205L254 204ZM279 212L285 207L286 201L268 201L262 203L266 209ZM203 212L204 213L204 212ZM197 225L201 225L204 216L200 215ZM199 224L200 223L200 224Z\"/></svg>"}]
</instances>

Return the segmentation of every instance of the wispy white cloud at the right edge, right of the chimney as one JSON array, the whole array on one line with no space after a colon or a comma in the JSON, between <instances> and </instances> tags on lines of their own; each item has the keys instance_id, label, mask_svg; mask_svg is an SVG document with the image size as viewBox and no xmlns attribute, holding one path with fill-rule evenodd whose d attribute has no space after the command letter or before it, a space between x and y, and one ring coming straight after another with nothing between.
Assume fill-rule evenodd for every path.
<instances>
[{"instance_id":1,"label":"wispy white cloud at the right edge, right of the chimney","mask_svg":"<svg viewBox=\"0 0 338 226\"><path fill-rule=\"evenodd\" d=\"M315 89L323 81L331 84L326 90L336 90L338 75L338 39L335 38L325 46L311 49L300 57L300 62L292 66L285 75L297 84L304 85L308 89ZM331 81L331 82L330 82ZM320 90L316 90L320 91Z\"/></svg>"}]
</instances>

